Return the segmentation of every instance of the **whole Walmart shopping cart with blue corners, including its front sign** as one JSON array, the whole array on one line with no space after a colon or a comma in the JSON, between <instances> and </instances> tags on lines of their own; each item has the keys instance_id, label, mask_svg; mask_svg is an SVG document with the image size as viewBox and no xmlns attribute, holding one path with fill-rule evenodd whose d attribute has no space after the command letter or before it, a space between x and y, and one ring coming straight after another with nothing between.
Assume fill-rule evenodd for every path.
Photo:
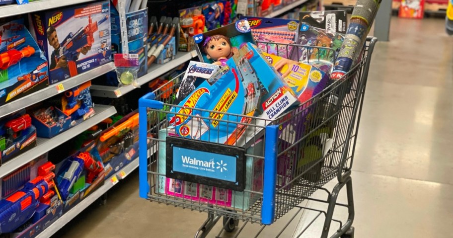
<instances>
[{"instance_id":1,"label":"whole Walmart shopping cart with blue corners, including its front sign","mask_svg":"<svg viewBox=\"0 0 453 238\"><path fill-rule=\"evenodd\" d=\"M215 115L219 112L173 105L181 75L145 95L139 101L140 196L207 212L208 218L196 231L195 237L206 237L220 218L223 218L223 227L217 237L222 234L239 237L247 224L259 226L255 237L270 237L267 230L263 230L291 213L281 232L272 235L278 237L305 209L316 211L318 215L315 219L325 215L321 237L329 235L332 221L339 223L332 237L353 237L354 200L350 175L376 41L376 38L367 39L360 61L342 80L332 83L321 93L274 120L224 112L219 119L201 116L205 114L200 113ZM316 48L291 47L306 48L308 52ZM317 50L320 49L323 48L318 47ZM176 136L169 119L175 116L191 118L189 128L192 139ZM199 135L202 133L209 133L209 138L219 137L221 129L206 132L206 125L211 123L223 123L227 128L233 127L235 132L246 131L243 134L244 143L239 144L236 140L225 145L219 140L201 141ZM222 160L200 162L190 156L181 156L181 151ZM177 159L185 159L188 162L186 166L193 164L194 169L205 166L206 170L215 170L216 173L181 172L187 170L175 162ZM228 169L225 176L223 169ZM335 177L338 183L332 191L323 188ZM338 194L345 185L348 203L337 203ZM310 198L315 191L327 192L327 199ZM325 211L303 207L301 203L305 199L326 203L328 207ZM348 218L344 223L333 219L337 206L348 209ZM236 229L239 221L242 221L241 227ZM300 237L302 233L296 236Z\"/></svg>"}]
</instances>

